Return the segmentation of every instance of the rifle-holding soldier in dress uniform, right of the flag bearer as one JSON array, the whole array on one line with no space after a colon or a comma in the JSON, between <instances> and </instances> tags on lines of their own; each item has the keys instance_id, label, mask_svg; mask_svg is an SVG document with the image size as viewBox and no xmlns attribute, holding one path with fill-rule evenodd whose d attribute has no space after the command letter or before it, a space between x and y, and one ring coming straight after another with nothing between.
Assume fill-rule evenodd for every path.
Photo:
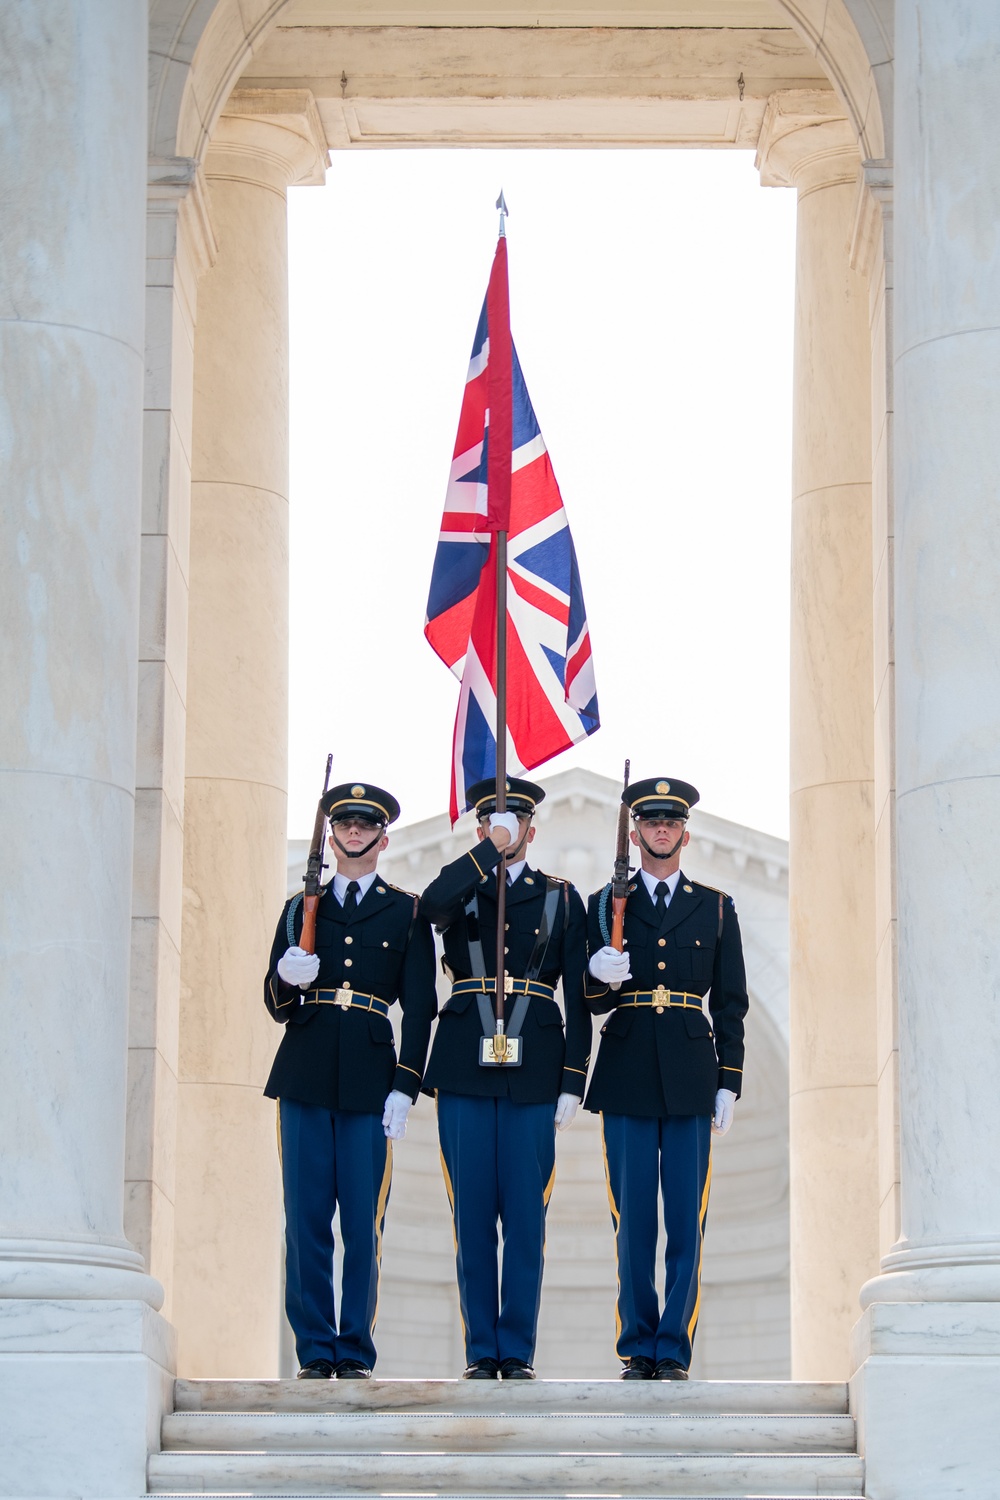
<instances>
[{"instance_id":1,"label":"rifle-holding soldier in dress uniform, right of the flag bearer","mask_svg":"<svg viewBox=\"0 0 1000 1500\"><path fill-rule=\"evenodd\" d=\"M600 1113L604 1134L622 1378L687 1380L712 1132L726 1134L741 1092L747 975L732 897L681 870L696 789L651 777L633 782L622 800L640 870L628 886L624 952L610 946L610 886L588 904L586 998L594 1014L610 1016L585 1107ZM667 1232L663 1308L658 1186Z\"/></svg>"}]
</instances>

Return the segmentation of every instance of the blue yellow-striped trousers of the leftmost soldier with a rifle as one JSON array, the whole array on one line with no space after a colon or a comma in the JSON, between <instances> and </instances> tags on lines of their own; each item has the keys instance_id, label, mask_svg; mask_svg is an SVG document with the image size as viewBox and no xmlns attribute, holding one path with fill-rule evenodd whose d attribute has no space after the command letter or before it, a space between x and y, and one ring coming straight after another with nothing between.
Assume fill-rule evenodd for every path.
<instances>
[{"instance_id":1,"label":"blue yellow-striped trousers of the leftmost soldier with a rifle","mask_svg":"<svg viewBox=\"0 0 1000 1500\"><path fill-rule=\"evenodd\" d=\"M300 1365L357 1359L375 1368L375 1317L393 1143L381 1114L280 1100L285 1311ZM340 1324L333 1292L333 1214L340 1208Z\"/></svg>"}]
</instances>

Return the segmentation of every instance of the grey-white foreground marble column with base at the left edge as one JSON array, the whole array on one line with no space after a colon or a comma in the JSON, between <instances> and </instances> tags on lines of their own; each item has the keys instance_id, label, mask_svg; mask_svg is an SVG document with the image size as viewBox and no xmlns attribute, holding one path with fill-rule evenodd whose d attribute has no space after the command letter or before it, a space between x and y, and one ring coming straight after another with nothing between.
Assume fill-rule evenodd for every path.
<instances>
[{"instance_id":1,"label":"grey-white foreground marble column with base at the left edge","mask_svg":"<svg viewBox=\"0 0 1000 1500\"><path fill-rule=\"evenodd\" d=\"M0 9L0 1494L145 1488L172 1359L123 1230L144 8Z\"/></svg>"}]
</instances>

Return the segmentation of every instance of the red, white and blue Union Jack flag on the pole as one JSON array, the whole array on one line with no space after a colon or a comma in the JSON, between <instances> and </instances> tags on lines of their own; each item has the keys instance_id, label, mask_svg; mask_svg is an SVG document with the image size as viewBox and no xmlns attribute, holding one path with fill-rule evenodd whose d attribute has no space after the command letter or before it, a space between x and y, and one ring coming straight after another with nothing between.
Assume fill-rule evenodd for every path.
<instances>
[{"instance_id":1,"label":"red, white and blue Union Jack flag on the pole","mask_svg":"<svg viewBox=\"0 0 1000 1500\"><path fill-rule=\"evenodd\" d=\"M453 824L469 806L466 788L496 774L498 531L508 534L510 774L541 765L600 728L591 636L573 537L517 352L510 342L510 324L504 327L505 250L507 242L501 238L472 344L424 626L433 650L462 680L451 758ZM507 350L508 364L504 360ZM507 392L501 386L499 399L498 363L510 370ZM504 428L511 432L507 471L510 510L502 465L499 482L496 478L496 460L502 460L504 454L493 453L490 462L490 404L495 411L495 447Z\"/></svg>"}]
</instances>

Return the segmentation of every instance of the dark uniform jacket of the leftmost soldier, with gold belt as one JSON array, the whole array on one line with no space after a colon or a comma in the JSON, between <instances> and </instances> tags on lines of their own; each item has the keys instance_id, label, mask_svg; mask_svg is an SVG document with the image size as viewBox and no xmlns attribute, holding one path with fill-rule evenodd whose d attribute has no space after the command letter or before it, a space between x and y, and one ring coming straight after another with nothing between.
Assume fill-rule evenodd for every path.
<instances>
[{"instance_id":1,"label":"dark uniform jacket of the leftmost soldier, with gold belt","mask_svg":"<svg viewBox=\"0 0 1000 1500\"><path fill-rule=\"evenodd\" d=\"M298 1100L328 1110L382 1113L391 1089L417 1098L427 1056L430 1023L438 1010L433 936L417 914L417 897L375 878L348 916L330 884L319 898L316 988L343 984L403 1011L399 1060L387 1016L337 1005L304 1005L303 992L277 976L277 960L289 946L288 908L274 933L264 980L264 1004L285 1022L271 1076L264 1089L271 1100ZM292 932L301 933L301 902ZM306 992L306 996L312 992Z\"/></svg>"}]
</instances>

